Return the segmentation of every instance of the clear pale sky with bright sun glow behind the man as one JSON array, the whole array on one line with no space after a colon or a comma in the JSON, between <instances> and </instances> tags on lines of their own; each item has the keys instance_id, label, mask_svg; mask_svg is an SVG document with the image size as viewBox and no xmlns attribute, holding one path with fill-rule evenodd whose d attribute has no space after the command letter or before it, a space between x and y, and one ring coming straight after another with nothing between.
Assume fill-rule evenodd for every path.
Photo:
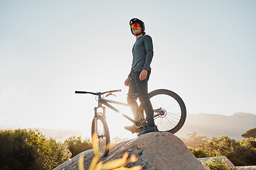
<instances>
[{"instance_id":1,"label":"clear pale sky with bright sun glow behind the man","mask_svg":"<svg viewBox=\"0 0 256 170\"><path fill-rule=\"evenodd\" d=\"M256 114L256 1L0 0L0 128L82 130L94 96L122 89L132 64L131 18L154 43L149 91L170 89L188 114ZM128 115L132 113L128 111ZM112 137L130 125L107 110Z\"/></svg>"}]
</instances>

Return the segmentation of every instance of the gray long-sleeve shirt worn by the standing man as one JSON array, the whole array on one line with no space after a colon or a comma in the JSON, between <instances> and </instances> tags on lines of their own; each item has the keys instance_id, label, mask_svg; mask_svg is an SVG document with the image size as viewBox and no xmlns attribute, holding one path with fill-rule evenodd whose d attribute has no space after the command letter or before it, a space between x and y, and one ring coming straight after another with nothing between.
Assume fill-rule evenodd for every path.
<instances>
[{"instance_id":1,"label":"gray long-sleeve shirt worn by the standing man","mask_svg":"<svg viewBox=\"0 0 256 170\"><path fill-rule=\"evenodd\" d=\"M152 38L149 35L139 37L132 47L132 69L129 77L132 77L132 72L142 72L143 69L150 70L153 54Z\"/></svg>"}]
</instances>

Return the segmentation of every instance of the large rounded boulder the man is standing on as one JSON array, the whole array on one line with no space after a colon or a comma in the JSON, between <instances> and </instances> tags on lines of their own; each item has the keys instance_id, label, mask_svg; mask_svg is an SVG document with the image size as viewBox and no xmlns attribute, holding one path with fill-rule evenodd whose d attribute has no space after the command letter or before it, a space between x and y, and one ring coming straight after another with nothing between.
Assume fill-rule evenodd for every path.
<instances>
[{"instance_id":1,"label":"large rounded boulder the man is standing on","mask_svg":"<svg viewBox=\"0 0 256 170\"><path fill-rule=\"evenodd\" d=\"M139 158L137 162L128 164L128 167L141 165L142 169L149 170L206 170L188 147L169 132L152 132L133 140L120 142L110 149L109 155L102 160L110 162L113 159L121 158L125 152L129 152L129 155L135 154ZM93 157L93 150L81 154L85 155L84 165L85 169L88 169ZM73 157L72 160L63 163L55 170L78 169L79 157L80 155Z\"/></svg>"}]
</instances>

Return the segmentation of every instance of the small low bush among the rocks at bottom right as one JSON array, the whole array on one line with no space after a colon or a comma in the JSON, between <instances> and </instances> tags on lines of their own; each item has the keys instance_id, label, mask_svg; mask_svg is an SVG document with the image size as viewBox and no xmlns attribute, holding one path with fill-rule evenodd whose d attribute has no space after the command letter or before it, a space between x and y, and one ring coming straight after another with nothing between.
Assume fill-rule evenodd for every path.
<instances>
[{"instance_id":1,"label":"small low bush among the rocks at bottom right","mask_svg":"<svg viewBox=\"0 0 256 170\"><path fill-rule=\"evenodd\" d=\"M210 170L230 170L232 169L228 164L225 163L225 160L215 157L211 158L203 164L207 165Z\"/></svg>"}]
</instances>

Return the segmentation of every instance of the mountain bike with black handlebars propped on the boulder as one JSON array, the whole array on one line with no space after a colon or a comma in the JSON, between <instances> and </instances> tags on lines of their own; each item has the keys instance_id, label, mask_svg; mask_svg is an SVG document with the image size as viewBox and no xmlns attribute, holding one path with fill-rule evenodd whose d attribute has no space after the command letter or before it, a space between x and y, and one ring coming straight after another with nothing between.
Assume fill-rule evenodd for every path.
<instances>
[{"instance_id":1,"label":"mountain bike with black handlebars propped on the boulder","mask_svg":"<svg viewBox=\"0 0 256 170\"><path fill-rule=\"evenodd\" d=\"M110 132L106 122L105 115L105 106L112 109L117 113L121 113L117 108L110 105L110 103L114 103L122 106L129 106L132 108L143 109L139 106L130 106L127 103L121 103L118 101L107 100L107 96L115 96L113 93L119 92L122 90L113 90L113 91L105 91L105 92L89 92L89 91L75 91L75 94L92 94L96 96L96 101L98 102L98 106L95 107L95 115L92 120L92 134L97 133L98 136L98 146L97 149L100 153L101 157L107 157L109 153L109 149L107 148L110 145ZM104 96L104 94L107 94ZM137 94L128 94L132 95L136 100L138 98ZM149 98L151 104L154 108L154 122L158 127L159 131L162 132L171 132L176 133L181 129L186 120L186 106L183 100L178 94L174 93L174 91L169 91L167 89L157 89L151 91L149 93ZM105 106L102 106L105 105ZM98 109L102 108L102 112L98 112ZM137 128L144 127L146 124L146 120L142 120L140 122L135 121L129 116L122 113L124 118L127 118Z\"/></svg>"}]
</instances>

